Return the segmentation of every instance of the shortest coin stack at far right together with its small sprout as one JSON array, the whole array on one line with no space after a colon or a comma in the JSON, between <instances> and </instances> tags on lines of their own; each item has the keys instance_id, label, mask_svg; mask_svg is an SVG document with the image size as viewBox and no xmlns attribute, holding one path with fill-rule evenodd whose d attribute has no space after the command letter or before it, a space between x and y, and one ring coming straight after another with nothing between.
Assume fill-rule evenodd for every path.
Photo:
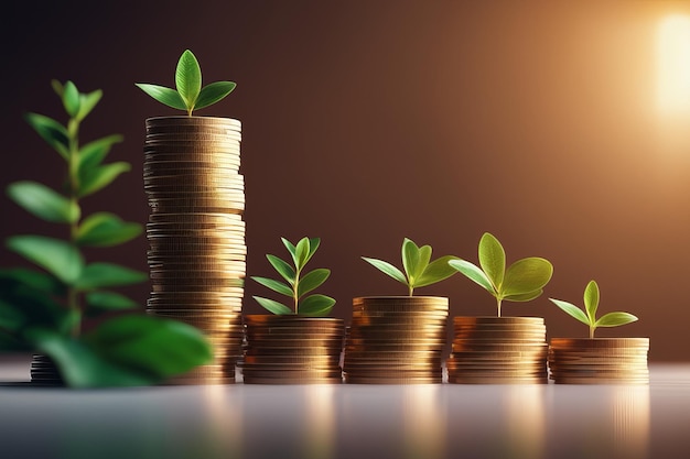
<instances>
[{"instance_id":1,"label":"shortest coin stack at far right together with its small sprout","mask_svg":"<svg viewBox=\"0 0 690 459\"><path fill-rule=\"evenodd\" d=\"M647 384L649 338L594 338L599 327L617 327L637 320L629 313L608 313L596 318L600 289L595 281L584 288L584 310L572 303L549 298L590 329L589 338L551 338L550 378L557 384Z\"/></svg>"}]
</instances>

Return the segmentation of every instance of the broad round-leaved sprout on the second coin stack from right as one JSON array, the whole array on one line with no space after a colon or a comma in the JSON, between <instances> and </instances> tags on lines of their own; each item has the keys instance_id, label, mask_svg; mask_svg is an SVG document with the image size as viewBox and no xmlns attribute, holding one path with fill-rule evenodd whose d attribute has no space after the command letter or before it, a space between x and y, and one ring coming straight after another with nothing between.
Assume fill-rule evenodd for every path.
<instances>
[{"instance_id":1,"label":"broad round-leaved sprout on the second coin stack from right","mask_svg":"<svg viewBox=\"0 0 690 459\"><path fill-rule=\"evenodd\" d=\"M551 280L553 266L538 256L521 259L506 269L506 252L498 239L485 232L479 240L479 266L466 260L449 264L484 287L496 298L498 317L502 302L529 302L543 293Z\"/></svg>"}]
</instances>

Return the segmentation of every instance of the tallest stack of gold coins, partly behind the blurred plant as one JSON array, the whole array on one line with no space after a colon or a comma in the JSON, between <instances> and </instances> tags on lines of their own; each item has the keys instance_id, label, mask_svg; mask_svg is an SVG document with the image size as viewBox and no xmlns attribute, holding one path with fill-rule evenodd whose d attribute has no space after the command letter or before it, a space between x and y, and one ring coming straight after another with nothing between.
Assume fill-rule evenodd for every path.
<instances>
[{"instance_id":1,"label":"tallest stack of gold coins, partly behind the blurred plant","mask_svg":"<svg viewBox=\"0 0 690 459\"><path fill-rule=\"evenodd\" d=\"M214 361L172 383L229 383L241 354L246 273L240 122L226 118L147 120L143 181L152 292L148 313L193 325Z\"/></svg>"}]
</instances>

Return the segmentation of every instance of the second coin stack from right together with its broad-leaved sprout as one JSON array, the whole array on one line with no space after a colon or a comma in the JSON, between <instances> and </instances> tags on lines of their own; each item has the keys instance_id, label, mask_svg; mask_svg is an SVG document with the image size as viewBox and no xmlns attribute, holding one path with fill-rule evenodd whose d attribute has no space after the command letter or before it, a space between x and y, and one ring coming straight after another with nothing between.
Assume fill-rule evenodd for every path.
<instances>
[{"instance_id":1,"label":"second coin stack from right together with its broad-leaved sprout","mask_svg":"<svg viewBox=\"0 0 690 459\"><path fill-rule=\"evenodd\" d=\"M452 260L450 266L496 298L495 317L454 317L452 352L446 360L451 383L546 383L546 325L541 317L503 317L502 303L529 302L543 293L553 266L531 256L506 269L506 253L493 234L479 240L479 266Z\"/></svg>"}]
</instances>

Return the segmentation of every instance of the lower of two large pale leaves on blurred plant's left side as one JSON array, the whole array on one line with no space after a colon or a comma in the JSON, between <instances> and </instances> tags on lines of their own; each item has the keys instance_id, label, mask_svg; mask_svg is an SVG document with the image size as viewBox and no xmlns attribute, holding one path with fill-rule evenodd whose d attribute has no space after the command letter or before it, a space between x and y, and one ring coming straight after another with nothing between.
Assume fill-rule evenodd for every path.
<instances>
[{"instance_id":1,"label":"lower of two large pale leaves on blurred plant's left side","mask_svg":"<svg viewBox=\"0 0 690 459\"><path fill-rule=\"evenodd\" d=\"M73 284L82 275L84 259L67 242L43 236L13 236L7 247L39 266L45 269L65 284Z\"/></svg>"}]
</instances>

